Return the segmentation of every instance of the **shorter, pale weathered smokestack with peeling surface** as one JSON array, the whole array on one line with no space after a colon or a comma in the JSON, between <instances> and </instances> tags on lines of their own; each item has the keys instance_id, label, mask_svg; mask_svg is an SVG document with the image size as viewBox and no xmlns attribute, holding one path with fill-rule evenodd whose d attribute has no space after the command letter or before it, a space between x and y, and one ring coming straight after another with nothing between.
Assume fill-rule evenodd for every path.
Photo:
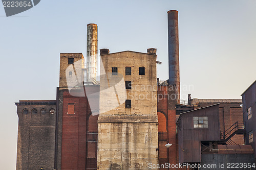
<instances>
[{"instance_id":1,"label":"shorter, pale weathered smokestack with peeling surface","mask_svg":"<svg viewBox=\"0 0 256 170\"><path fill-rule=\"evenodd\" d=\"M98 26L95 23L87 25L87 75L88 79L97 76L97 35Z\"/></svg>"}]
</instances>

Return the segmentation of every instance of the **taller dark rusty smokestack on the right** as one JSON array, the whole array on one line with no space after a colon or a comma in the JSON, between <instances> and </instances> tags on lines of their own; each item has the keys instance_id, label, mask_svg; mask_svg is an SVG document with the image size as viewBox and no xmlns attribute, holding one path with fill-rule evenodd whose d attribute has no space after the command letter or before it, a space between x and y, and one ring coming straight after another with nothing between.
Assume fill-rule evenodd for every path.
<instances>
[{"instance_id":1,"label":"taller dark rusty smokestack on the right","mask_svg":"<svg viewBox=\"0 0 256 170\"><path fill-rule=\"evenodd\" d=\"M168 14L168 57L169 85L176 85L177 98L180 99L180 62L178 11L170 10Z\"/></svg>"}]
</instances>

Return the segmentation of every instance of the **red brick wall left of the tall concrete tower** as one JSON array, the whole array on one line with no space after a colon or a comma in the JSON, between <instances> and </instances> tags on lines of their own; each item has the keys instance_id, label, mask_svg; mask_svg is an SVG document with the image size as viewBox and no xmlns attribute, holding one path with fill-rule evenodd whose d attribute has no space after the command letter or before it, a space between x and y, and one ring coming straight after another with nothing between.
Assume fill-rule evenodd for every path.
<instances>
[{"instance_id":1,"label":"red brick wall left of the tall concrete tower","mask_svg":"<svg viewBox=\"0 0 256 170\"><path fill-rule=\"evenodd\" d=\"M85 96L72 96L68 90L62 90L62 96L61 169L97 169L98 115L91 114ZM75 114L67 114L70 103L74 104Z\"/></svg>"}]
</instances>

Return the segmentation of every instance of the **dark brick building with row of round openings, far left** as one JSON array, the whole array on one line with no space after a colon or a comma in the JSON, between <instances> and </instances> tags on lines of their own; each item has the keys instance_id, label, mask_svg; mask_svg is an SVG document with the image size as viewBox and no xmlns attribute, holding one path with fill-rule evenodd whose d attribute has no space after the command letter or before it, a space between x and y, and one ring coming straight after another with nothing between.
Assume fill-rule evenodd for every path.
<instances>
[{"instance_id":1,"label":"dark brick building with row of round openings, far left","mask_svg":"<svg viewBox=\"0 0 256 170\"><path fill-rule=\"evenodd\" d=\"M16 169L54 169L56 101L20 101L16 105L19 117ZM42 109L46 112L41 113ZM55 111L52 114L51 109Z\"/></svg>"}]
</instances>

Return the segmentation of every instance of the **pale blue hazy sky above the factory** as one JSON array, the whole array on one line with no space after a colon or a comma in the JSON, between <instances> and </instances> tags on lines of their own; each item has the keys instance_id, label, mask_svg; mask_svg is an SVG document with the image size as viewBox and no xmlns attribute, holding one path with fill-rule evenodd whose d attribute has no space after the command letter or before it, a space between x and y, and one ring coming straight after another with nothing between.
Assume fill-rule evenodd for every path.
<instances>
[{"instance_id":1,"label":"pale blue hazy sky above the factory","mask_svg":"<svg viewBox=\"0 0 256 170\"><path fill-rule=\"evenodd\" d=\"M98 25L98 49L157 48L166 80L168 10L179 11L181 98L241 99L256 77L256 0L42 0L10 17L0 5L0 169L16 167L14 103L56 99L59 54L86 56L88 23Z\"/></svg>"}]
</instances>

